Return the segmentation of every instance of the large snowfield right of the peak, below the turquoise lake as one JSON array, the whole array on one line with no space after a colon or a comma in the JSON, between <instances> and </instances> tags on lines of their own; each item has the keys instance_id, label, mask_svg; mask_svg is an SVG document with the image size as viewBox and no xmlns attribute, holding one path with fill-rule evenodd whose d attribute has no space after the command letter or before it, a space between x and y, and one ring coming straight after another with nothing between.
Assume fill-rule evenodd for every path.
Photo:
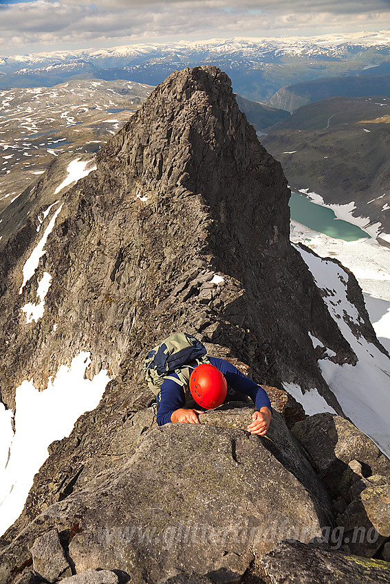
<instances>
[{"instance_id":1,"label":"large snowfield right of the peak, below the turquoise lake","mask_svg":"<svg viewBox=\"0 0 390 584\"><path fill-rule=\"evenodd\" d=\"M324 300L329 313L358 357L356 366L339 366L330 359L319 361L323 377L345 414L390 456L390 359L366 339L356 338L352 333L348 318L358 324L360 317L356 307L347 299L345 282L348 275L343 268L325 259L337 258L354 273L378 339L390 350L390 249L382 247L373 238L352 242L336 240L312 232L296 222L292 223L291 239L293 242L301 241L324 258L316 258L296 247L318 287L327 290ZM346 319L338 317L343 313L348 315ZM310 336L314 346L321 344L321 341ZM316 413L316 407L317 412L324 411L323 403L317 401L313 407L312 396L302 394L298 386L289 388L285 384L285 388L302 403L307 414Z\"/></svg>"}]
</instances>

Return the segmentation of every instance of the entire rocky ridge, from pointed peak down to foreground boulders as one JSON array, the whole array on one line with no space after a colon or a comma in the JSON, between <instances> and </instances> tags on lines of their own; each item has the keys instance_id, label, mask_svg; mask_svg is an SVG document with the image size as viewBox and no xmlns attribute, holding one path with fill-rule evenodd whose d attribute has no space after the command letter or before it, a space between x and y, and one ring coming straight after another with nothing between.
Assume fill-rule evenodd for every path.
<instances>
[{"instance_id":1,"label":"entire rocky ridge, from pointed peak down to foreground boulders","mask_svg":"<svg viewBox=\"0 0 390 584\"><path fill-rule=\"evenodd\" d=\"M294 582L310 581L310 565L312 581L323 569L326 581L356 582L359 556L365 581L390 582L390 462L346 420L308 333L334 363L357 357L290 245L281 166L226 74L171 74L100 150L96 170L68 190L49 185L50 169L15 201L18 228L0 257L1 401L14 408L31 377L44 391L81 351L91 354L86 377L107 368L112 380L50 445L0 539L1 583L276 583L289 554L304 567ZM26 324L21 308L40 297L45 273L43 316ZM347 286L356 335L380 348L351 274ZM267 436L246 431L248 403L200 425L156 425L142 363L177 330L266 386ZM283 383L317 388L334 413L305 416Z\"/></svg>"}]
</instances>

